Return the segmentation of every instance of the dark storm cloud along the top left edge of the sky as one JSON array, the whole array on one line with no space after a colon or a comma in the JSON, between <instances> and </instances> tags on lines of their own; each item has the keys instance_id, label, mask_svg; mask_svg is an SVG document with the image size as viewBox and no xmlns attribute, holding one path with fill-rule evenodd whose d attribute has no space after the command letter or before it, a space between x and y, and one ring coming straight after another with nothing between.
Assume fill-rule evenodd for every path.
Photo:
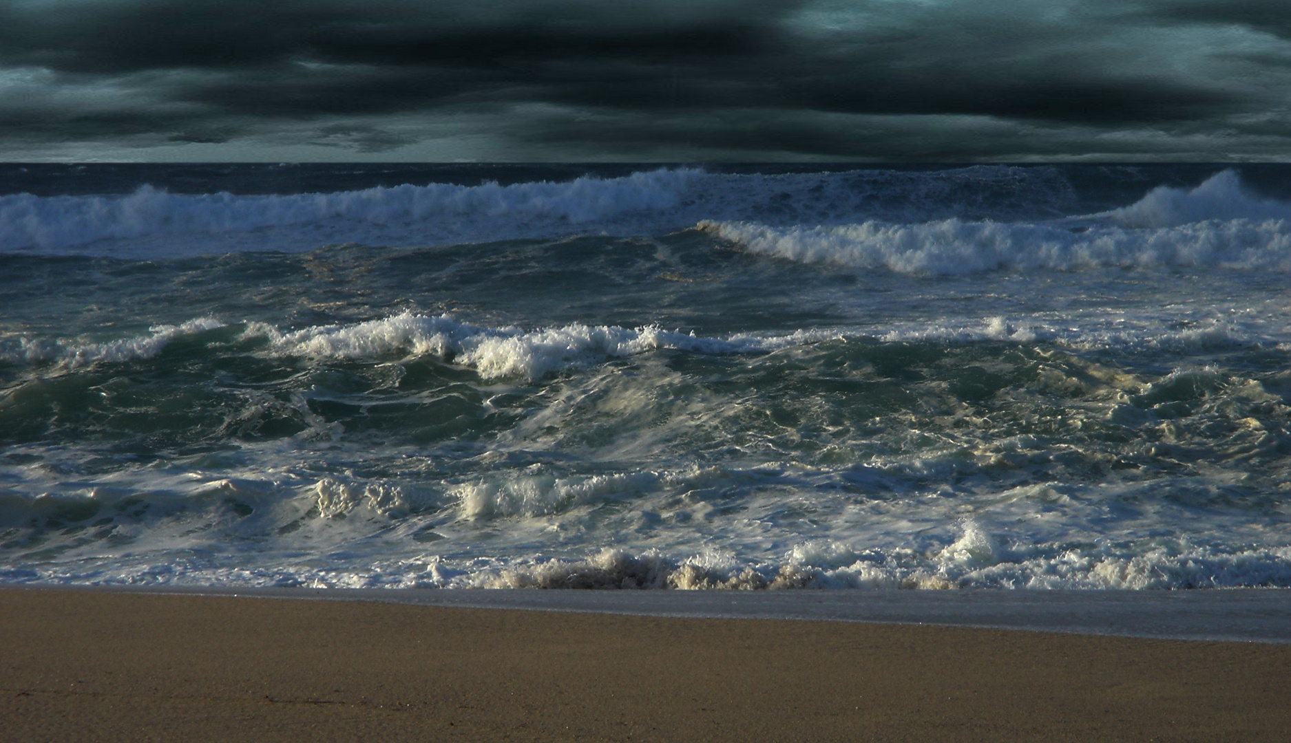
<instances>
[{"instance_id":1,"label":"dark storm cloud along the top left edge of the sky","mask_svg":"<svg viewBox=\"0 0 1291 743\"><path fill-rule=\"evenodd\" d=\"M117 0L0 9L0 61L71 72L272 66L292 59L501 68L509 62L758 50L793 3L329 3ZM773 10L772 10L773 9ZM599 12L598 12L599 10Z\"/></svg>"}]
</instances>

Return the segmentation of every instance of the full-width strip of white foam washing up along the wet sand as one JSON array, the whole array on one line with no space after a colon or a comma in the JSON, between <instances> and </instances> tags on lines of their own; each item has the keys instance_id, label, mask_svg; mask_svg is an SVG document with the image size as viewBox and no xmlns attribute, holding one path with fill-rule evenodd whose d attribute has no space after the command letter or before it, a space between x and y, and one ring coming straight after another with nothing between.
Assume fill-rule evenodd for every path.
<instances>
[{"instance_id":1,"label":"full-width strip of white foam washing up along the wet sand","mask_svg":"<svg viewBox=\"0 0 1291 743\"><path fill-rule=\"evenodd\" d=\"M154 555L123 559L110 570L75 565L0 569L4 583L305 586L315 588L675 588L675 589L1197 589L1291 588L1291 548L1194 547L1183 552L1066 551L1060 555L957 566L910 551L870 551L843 566L753 561L704 566L701 555L676 559L602 550L582 560L519 559L473 568L436 556L371 560L361 568L315 568L302 561L219 566ZM333 556L337 557L337 556ZM167 560L167 561L158 561Z\"/></svg>"}]
</instances>

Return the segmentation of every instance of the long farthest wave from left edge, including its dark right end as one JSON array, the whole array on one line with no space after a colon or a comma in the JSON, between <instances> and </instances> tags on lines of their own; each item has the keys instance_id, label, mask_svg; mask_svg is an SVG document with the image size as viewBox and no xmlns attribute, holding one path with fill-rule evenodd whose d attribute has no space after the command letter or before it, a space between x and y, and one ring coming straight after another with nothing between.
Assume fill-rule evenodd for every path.
<instances>
[{"instance_id":1,"label":"long farthest wave from left edge, including its dark right end","mask_svg":"<svg viewBox=\"0 0 1291 743\"><path fill-rule=\"evenodd\" d=\"M431 183L270 196L179 195L143 186L125 196L0 196L0 252L169 258L337 243L420 246L666 233L700 219L1003 218L1020 205L1053 213L1069 203L1057 172L998 165L772 175L682 168L560 183Z\"/></svg>"}]
</instances>

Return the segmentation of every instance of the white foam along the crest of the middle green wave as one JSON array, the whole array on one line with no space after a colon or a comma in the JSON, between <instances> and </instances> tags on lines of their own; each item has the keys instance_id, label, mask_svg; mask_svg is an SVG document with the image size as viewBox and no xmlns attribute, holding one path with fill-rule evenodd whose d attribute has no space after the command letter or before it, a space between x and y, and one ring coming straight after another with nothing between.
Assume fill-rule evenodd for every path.
<instances>
[{"instance_id":1,"label":"white foam along the crest of the middle green wave","mask_svg":"<svg viewBox=\"0 0 1291 743\"><path fill-rule=\"evenodd\" d=\"M152 359L174 341L229 328L213 317L198 317L178 325L156 325L146 335L112 341L57 339L14 334L0 338L0 361L18 365L52 364L62 373L92 364L116 364ZM1260 330L1255 328L1255 330ZM1268 330L1268 328L1263 328ZM762 353L824 342L878 341L886 343L1053 343L1078 350L1139 350L1195 352L1242 346L1277 347L1281 337L1252 335L1232 322L1203 322L1171 329L1159 324L1126 328L1119 315L1091 317L1082 322L1062 319L991 316L932 322L897 322L879 328L852 326L802 329L793 333L736 333L707 338L658 326L620 328L573 324L524 330L516 326L488 328L460 322L451 316L402 312L351 325L314 325L280 330L265 322L248 322L244 341L265 339L276 356L312 360L380 360L434 356L475 369L484 379L541 379L574 369L587 369L652 351L673 350L701 355Z\"/></svg>"}]
</instances>

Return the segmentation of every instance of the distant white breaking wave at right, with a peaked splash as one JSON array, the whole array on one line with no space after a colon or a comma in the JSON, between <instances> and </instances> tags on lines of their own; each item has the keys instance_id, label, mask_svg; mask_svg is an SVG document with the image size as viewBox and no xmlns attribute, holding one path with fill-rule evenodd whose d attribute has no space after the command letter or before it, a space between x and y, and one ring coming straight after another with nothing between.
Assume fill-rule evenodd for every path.
<instances>
[{"instance_id":1,"label":"distant white breaking wave at right, with a peaked splash","mask_svg":"<svg viewBox=\"0 0 1291 743\"><path fill-rule=\"evenodd\" d=\"M1228 170L1192 191L1162 187L1123 209L1055 222L704 221L697 228L759 255L914 275L1105 266L1291 270L1291 205L1247 195Z\"/></svg>"}]
</instances>

